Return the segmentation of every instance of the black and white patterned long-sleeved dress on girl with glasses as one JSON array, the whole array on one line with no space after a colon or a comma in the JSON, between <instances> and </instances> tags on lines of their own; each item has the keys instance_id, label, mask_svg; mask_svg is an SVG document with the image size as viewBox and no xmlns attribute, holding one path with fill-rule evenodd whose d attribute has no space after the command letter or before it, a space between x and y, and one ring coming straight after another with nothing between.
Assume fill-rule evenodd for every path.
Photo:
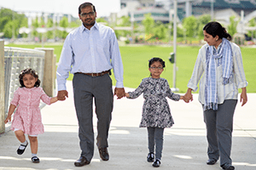
<instances>
[{"instance_id":1,"label":"black and white patterned long-sleeved dress on girl with glasses","mask_svg":"<svg viewBox=\"0 0 256 170\"><path fill-rule=\"evenodd\" d=\"M143 94L143 117L139 127L172 127L174 124L166 97L178 101L179 94L173 94L166 79L143 78L138 88L128 92L128 99L136 99Z\"/></svg>"}]
</instances>

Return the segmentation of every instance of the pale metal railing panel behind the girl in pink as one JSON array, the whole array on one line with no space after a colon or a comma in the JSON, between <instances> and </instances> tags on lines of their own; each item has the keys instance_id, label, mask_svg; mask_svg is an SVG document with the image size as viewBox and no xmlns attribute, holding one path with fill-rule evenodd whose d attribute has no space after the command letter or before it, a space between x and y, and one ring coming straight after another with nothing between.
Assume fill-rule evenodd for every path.
<instances>
[{"instance_id":1,"label":"pale metal railing panel behind the girl in pink","mask_svg":"<svg viewBox=\"0 0 256 170\"><path fill-rule=\"evenodd\" d=\"M15 90L20 87L20 71L32 68L38 72L41 83L44 83L44 54L42 50L4 47L5 114L8 113L9 103L13 99Z\"/></svg>"}]
</instances>

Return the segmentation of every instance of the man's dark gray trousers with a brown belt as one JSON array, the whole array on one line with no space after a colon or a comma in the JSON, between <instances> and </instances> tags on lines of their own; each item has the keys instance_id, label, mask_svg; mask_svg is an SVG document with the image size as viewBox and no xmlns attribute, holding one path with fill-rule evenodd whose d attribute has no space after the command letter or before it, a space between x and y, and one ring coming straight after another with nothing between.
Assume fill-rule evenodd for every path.
<instances>
[{"instance_id":1,"label":"man's dark gray trousers with a brown belt","mask_svg":"<svg viewBox=\"0 0 256 170\"><path fill-rule=\"evenodd\" d=\"M98 148L108 147L108 130L113 111L112 80L108 74L90 77L75 73L73 95L79 121L81 156L90 161L94 153L93 99L97 116L96 144Z\"/></svg>"}]
</instances>

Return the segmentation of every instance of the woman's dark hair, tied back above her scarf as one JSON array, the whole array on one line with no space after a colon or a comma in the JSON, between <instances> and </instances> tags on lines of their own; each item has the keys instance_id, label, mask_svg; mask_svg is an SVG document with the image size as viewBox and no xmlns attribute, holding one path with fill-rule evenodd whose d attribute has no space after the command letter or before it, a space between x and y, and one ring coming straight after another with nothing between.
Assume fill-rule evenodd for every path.
<instances>
[{"instance_id":1,"label":"woman's dark hair, tied back above her scarf","mask_svg":"<svg viewBox=\"0 0 256 170\"><path fill-rule=\"evenodd\" d=\"M232 37L226 31L226 29L215 21L209 22L206 26L204 26L203 31L207 31L207 33L212 35L212 37L218 36L220 39L225 37L229 41L232 40Z\"/></svg>"}]
</instances>

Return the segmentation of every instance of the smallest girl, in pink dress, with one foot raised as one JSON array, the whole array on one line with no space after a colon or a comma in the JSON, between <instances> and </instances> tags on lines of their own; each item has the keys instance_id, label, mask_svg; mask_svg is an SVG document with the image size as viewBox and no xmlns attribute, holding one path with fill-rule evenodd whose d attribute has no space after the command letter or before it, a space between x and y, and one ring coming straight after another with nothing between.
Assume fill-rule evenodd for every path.
<instances>
[{"instance_id":1,"label":"smallest girl, in pink dress, with one foot raised","mask_svg":"<svg viewBox=\"0 0 256 170\"><path fill-rule=\"evenodd\" d=\"M41 113L39 109L40 99L47 105L58 101L57 97L50 98L44 93L43 88L40 88L40 80L38 73L30 68L20 72L20 88L15 91L14 99L12 99L8 116L5 123L11 121L11 116L15 111L14 120L11 130L15 131L16 138L20 140L20 147L17 154L22 155L26 150L28 142L25 134L31 145L32 162L38 163L38 134L44 133L44 125L42 123Z\"/></svg>"}]
</instances>

